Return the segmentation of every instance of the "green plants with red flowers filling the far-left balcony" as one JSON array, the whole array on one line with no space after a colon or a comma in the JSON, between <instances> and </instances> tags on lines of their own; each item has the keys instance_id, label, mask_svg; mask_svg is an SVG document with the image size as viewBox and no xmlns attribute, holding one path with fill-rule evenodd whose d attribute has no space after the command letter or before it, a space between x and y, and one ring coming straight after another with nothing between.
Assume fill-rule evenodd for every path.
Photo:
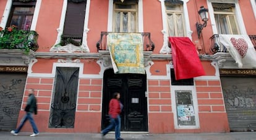
<instances>
[{"instance_id":1,"label":"green plants with red flowers filling the far-left balcony","mask_svg":"<svg viewBox=\"0 0 256 140\"><path fill-rule=\"evenodd\" d=\"M14 25L6 29L0 27L0 49L21 49L28 54L38 49L37 37L35 31L24 31Z\"/></svg>"}]
</instances>

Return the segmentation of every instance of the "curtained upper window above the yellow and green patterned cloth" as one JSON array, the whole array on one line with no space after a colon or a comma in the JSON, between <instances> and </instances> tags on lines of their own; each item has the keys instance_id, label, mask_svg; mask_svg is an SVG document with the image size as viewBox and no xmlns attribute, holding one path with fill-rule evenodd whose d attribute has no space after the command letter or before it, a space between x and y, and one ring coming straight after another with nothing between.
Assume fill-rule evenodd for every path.
<instances>
[{"instance_id":1,"label":"curtained upper window above the yellow and green patterned cloth","mask_svg":"<svg viewBox=\"0 0 256 140\"><path fill-rule=\"evenodd\" d=\"M137 2L114 2L113 10L114 32L138 32Z\"/></svg>"}]
</instances>

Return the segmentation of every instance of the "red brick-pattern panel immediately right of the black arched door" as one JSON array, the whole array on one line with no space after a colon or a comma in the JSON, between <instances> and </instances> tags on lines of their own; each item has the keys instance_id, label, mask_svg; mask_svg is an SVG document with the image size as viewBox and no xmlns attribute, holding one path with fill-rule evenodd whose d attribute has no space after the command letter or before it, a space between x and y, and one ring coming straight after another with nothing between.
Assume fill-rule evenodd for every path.
<instances>
[{"instance_id":1,"label":"red brick-pattern panel immediately right of the black arched door","mask_svg":"<svg viewBox=\"0 0 256 140\"><path fill-rule=\"evenodd\" d=\"M170 80L148 80L148 112L172 112Z\"/></svg>"}]
</instances>

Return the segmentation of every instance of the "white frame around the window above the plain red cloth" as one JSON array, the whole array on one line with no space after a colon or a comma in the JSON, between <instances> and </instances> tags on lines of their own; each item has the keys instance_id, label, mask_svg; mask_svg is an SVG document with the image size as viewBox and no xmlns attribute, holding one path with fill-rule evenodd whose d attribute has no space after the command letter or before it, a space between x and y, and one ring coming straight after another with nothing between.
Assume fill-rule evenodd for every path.
<instances>
[{"instance_id":1,"label":"white frame around the window above the plain red cloth","mask_svg":"<svg viewBox=\"0 0 256 140\"><path fill-rule=\"evenodd\" d=\"M163 33L163 47L160 50L161 54L165 53L171 53L171 49L168 46L168 27L166 25L167 23L167 17L166 17L166 10L165 10L165 4L164 0L158 0L161 2L161 13L162 13L162 19L163 19L163 30L161 31ZM189 12L187 10L187 2L190 0L180 0L183 1L183 15L184 15L184 23L185 23L185 30L186 30L186 36L189 37L192 40L192 33L193 31L190 29L190 23L189 23Z\"/></svg>"}]
</instances>

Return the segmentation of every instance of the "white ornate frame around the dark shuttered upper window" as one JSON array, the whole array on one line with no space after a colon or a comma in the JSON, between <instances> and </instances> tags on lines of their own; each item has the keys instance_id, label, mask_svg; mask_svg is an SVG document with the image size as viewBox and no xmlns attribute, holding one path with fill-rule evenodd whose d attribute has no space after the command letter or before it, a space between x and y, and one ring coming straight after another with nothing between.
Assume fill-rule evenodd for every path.
<instances>
[{"instance_id":1,"label":"white ornate frame around the dark shuttered upper window","mask_svg":"<svg viewBox=\"0 0 256 140\"><path fill-rule=\"evenodd\" d=\"M61 12L61 20L59 23L59 28L57 29L58 31L58 36L56 39L55 44L53 47L51 47L50 52L90 52L89 47L87 45L87 33L89 31L88 29L88 19L89 19L89 12L90 12L90 0L87 0L86 4L86 10L85 10L85 21L84 21L84 26L83 26L83 42L82 45L79 47L76 46L61 46L61 47L56 47L61 42L61 35L63 33L64 29L64 23L65 23L65 18L66 18L66 12L67 12L67 0L63 0L63 6L62 6L62 12Z\"/></svg>"}]
</instances>

